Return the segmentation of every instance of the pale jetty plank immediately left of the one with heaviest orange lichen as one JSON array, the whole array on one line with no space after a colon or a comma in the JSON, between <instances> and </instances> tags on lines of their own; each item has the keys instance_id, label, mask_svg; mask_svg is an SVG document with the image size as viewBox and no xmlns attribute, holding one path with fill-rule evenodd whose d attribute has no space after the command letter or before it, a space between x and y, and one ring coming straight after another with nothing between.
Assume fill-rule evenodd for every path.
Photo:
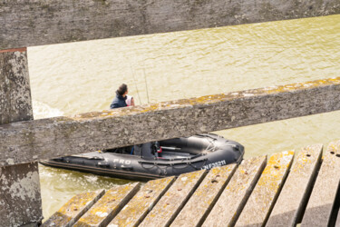
<instances>
[{"instance_id":1,"label":"pale jetty plank immediately left of the one with heaviest orange lichen","mask_svg":"<svg viewBox=\"0 0 340 227\"><path fill-rule=\"evenodd\" d=\"M202 226L233 226L266 166L267 156L244 160Z\"/></svg>"}]
</instances>

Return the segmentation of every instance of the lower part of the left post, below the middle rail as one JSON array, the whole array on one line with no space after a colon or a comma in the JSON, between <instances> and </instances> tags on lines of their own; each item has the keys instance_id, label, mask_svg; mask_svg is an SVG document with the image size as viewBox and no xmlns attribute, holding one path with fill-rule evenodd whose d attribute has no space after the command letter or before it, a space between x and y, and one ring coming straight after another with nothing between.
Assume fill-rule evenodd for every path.
<instances>
[{"instance_id":1,"label":"lower part of the left post, below the middle rail","mask_svg":"<svg viewBox=\"0 0 340 227\"><path fill-rule=\"evenodd\" d=\"M21 226L43 219L38 165L0 168L0 226Z\"/></svg>"}]
</instances>

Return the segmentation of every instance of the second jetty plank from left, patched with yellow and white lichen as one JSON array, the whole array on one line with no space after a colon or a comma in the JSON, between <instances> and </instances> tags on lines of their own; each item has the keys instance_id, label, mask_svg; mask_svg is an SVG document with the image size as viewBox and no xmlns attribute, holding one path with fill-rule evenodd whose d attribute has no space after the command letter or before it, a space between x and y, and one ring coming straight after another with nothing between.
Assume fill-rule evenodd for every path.
<instances>
[{"instance_id":1,"label":"second jetty plank from left, patched with yellow and white lichen","mask_svg":"<svg viewBox=\"0 0 340 227\"><path fill-rule=\"evenodd\" d=\"M132 196L140 189L140 183L129 183L115 186L107 191L102 198L96 202L74 227L107 226L112 218L121 211L121 208L131 200Z\"/></svg>"}]
</instances>

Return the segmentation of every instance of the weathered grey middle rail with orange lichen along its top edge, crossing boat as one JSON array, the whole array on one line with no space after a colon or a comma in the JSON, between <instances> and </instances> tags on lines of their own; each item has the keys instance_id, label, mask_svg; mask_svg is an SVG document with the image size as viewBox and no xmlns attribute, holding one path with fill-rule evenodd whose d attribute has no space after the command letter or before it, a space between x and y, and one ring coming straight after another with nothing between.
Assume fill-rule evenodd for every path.
<instances>
[{"instance_id":1,"label":"weathered grey middle rail with orange lichen along its top edge, crossing boat","mask_svg":"<svg viewBox=\"0 0 340 227\"><path fill-rule=\"evenodd\" d=\"M0 166L340 109L340 77L0 125Z\"/></svg>"}]
</instances>

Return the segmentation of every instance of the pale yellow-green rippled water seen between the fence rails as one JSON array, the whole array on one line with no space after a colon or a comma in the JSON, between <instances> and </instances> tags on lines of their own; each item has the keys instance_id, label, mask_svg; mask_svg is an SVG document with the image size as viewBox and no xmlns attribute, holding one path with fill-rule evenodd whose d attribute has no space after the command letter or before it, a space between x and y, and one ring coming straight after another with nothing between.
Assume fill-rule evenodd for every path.
<instances>
[{"instance_id":1,"label":"pale yellow-green rippled water seen between the fence rails","mask_svg":"<svg viewBox=\"0 0 340 227\"><path fill-rule=\"evenodd\" d=\"M312 81L339 76L340 15L38 46L28 61L35 119L108 109L121 83L147 104ZM218 133L251 157L340 139L339 119L334 112ZM76 193L127 183L44 166L40 174L45 217Z\"/></svg>"}]
</instances>

